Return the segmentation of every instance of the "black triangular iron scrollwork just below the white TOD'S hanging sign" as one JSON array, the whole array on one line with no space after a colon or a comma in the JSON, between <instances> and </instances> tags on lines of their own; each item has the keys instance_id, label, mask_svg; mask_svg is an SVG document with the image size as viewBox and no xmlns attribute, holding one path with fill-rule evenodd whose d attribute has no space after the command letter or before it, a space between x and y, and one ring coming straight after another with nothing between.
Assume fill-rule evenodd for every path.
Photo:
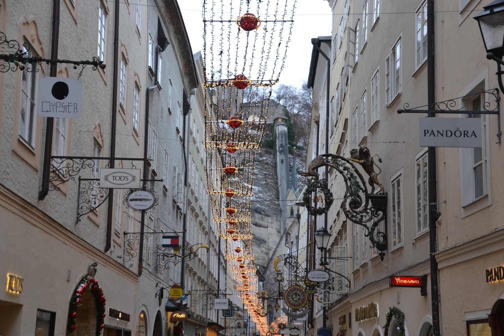
<instances>
[{"instance_id":1,"label":"black triangular iron scrollwork just below the white TOD'S hanging sign","mask_svg":"<svg viewBox=\"0 0 504 336\"><path fill-rule=\"evenodd\" d=\"M81 217L98 209L108 198L107 188L100 188L100 180L79 177L79 205L77 207L77 221Z\"/></svg>"}]
</instances>

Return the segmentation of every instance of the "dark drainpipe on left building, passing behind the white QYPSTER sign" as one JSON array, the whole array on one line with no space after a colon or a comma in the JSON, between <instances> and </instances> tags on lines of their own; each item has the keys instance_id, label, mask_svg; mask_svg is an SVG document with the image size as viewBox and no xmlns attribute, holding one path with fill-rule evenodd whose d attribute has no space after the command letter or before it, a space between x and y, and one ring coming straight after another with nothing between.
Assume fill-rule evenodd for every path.
<instances>
[{"instance_id":1,"label":"dark drainpipe on left building, passing behind the white QYPSTER sign","mask_svg":"<svg viewBox=\"0 0 504 336\"><path fill-rule=\"evenodd\" d=\"M59 1L52 2L52 40L51 40L51 59L58 58L59 45ZM49 76L56 77L57 64L51 63ZM42 188L38 193L38 199L42 200L49 192L49 171L51 169L52 154L52 130L54 128L54 118L48 117L45 126L45 144L44 144L44 163L42 170Z\"/></svg>"}]
</instances>

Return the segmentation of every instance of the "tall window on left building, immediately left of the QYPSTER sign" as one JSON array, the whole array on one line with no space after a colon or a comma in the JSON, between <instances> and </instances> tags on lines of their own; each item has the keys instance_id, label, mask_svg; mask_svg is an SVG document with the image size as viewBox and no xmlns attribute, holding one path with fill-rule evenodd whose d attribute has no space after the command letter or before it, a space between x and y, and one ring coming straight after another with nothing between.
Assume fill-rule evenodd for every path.
<instances>
[{"instance_id":1,"label":"tall window on left building, immediately left of the QYPSTER sign","mask_svg":"<svg viewBox=\"0 0 504 336\"><path fill-rule=\"evenodd\" d=\"M33 48L30 48L30 50L33 50ZM27 52L28 50L23 46L23 51ZM19 137L32 149L35 147L35 124L37 120L35 105L38 81L35 69L36 64L26 64L21 74L21 111L19 113Z\"/></svg>"}]
</instances>

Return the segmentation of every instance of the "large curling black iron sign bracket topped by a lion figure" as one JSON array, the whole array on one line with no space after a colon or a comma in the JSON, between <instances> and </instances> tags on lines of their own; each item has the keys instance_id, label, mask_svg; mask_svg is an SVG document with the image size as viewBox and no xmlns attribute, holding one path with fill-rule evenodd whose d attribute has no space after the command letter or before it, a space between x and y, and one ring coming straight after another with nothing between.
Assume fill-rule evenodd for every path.
<instances>
[{"instance_id":1,"label":"large curling black iron sign bracket topped by a lion figure","mask_svg":"<svg viewBox=\"0 0 504 336\"><path fill-rule=\"evenodd\" d=\"M379 255L383 260L385 257L384 251L388 247L387 193L384 192L382 184L377 179L377 174L373 168L375 163L367 147L361 146L358 156L355 156L356 153L353 154L353 158L344 158L336 154L319 155L309 164L308 174L317 178L316 169L329 166L336 169L343 176L346 187L342 201L343 213L348 220L366 229L365 236L369 237L372 244L371 248L375 247L379 250ZM369 175L370 192L367 190L364 177L354 166L353 162L359 163ZM379 193L372 193L375 184L380 187ZM310 198L310 195L308 195L306 200L303 198L306 207ZM382 222L385 223L383 231L379 227Z\"/></svg>"}]
</instances>

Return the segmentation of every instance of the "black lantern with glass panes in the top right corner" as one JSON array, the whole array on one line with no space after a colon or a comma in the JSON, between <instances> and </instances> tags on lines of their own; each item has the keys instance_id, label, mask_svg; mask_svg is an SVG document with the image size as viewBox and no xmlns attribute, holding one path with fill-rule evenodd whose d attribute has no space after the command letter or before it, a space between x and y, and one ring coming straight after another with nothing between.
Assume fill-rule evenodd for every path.
<instances>
[{"instance_id":1,"label":"black lantern with glass panes in the top right corner","mask_svg":"<svg viewBox=\"0 0 504 336\"><path fill-rule=\"evenodd\" d=\"M504 0L495 0L483 7L483 11L474 17L479 24L479 30L486 49L486 58L497 62L499 87L504 92L500 66L504 65Z\"/></svg>"}]
</instances>

